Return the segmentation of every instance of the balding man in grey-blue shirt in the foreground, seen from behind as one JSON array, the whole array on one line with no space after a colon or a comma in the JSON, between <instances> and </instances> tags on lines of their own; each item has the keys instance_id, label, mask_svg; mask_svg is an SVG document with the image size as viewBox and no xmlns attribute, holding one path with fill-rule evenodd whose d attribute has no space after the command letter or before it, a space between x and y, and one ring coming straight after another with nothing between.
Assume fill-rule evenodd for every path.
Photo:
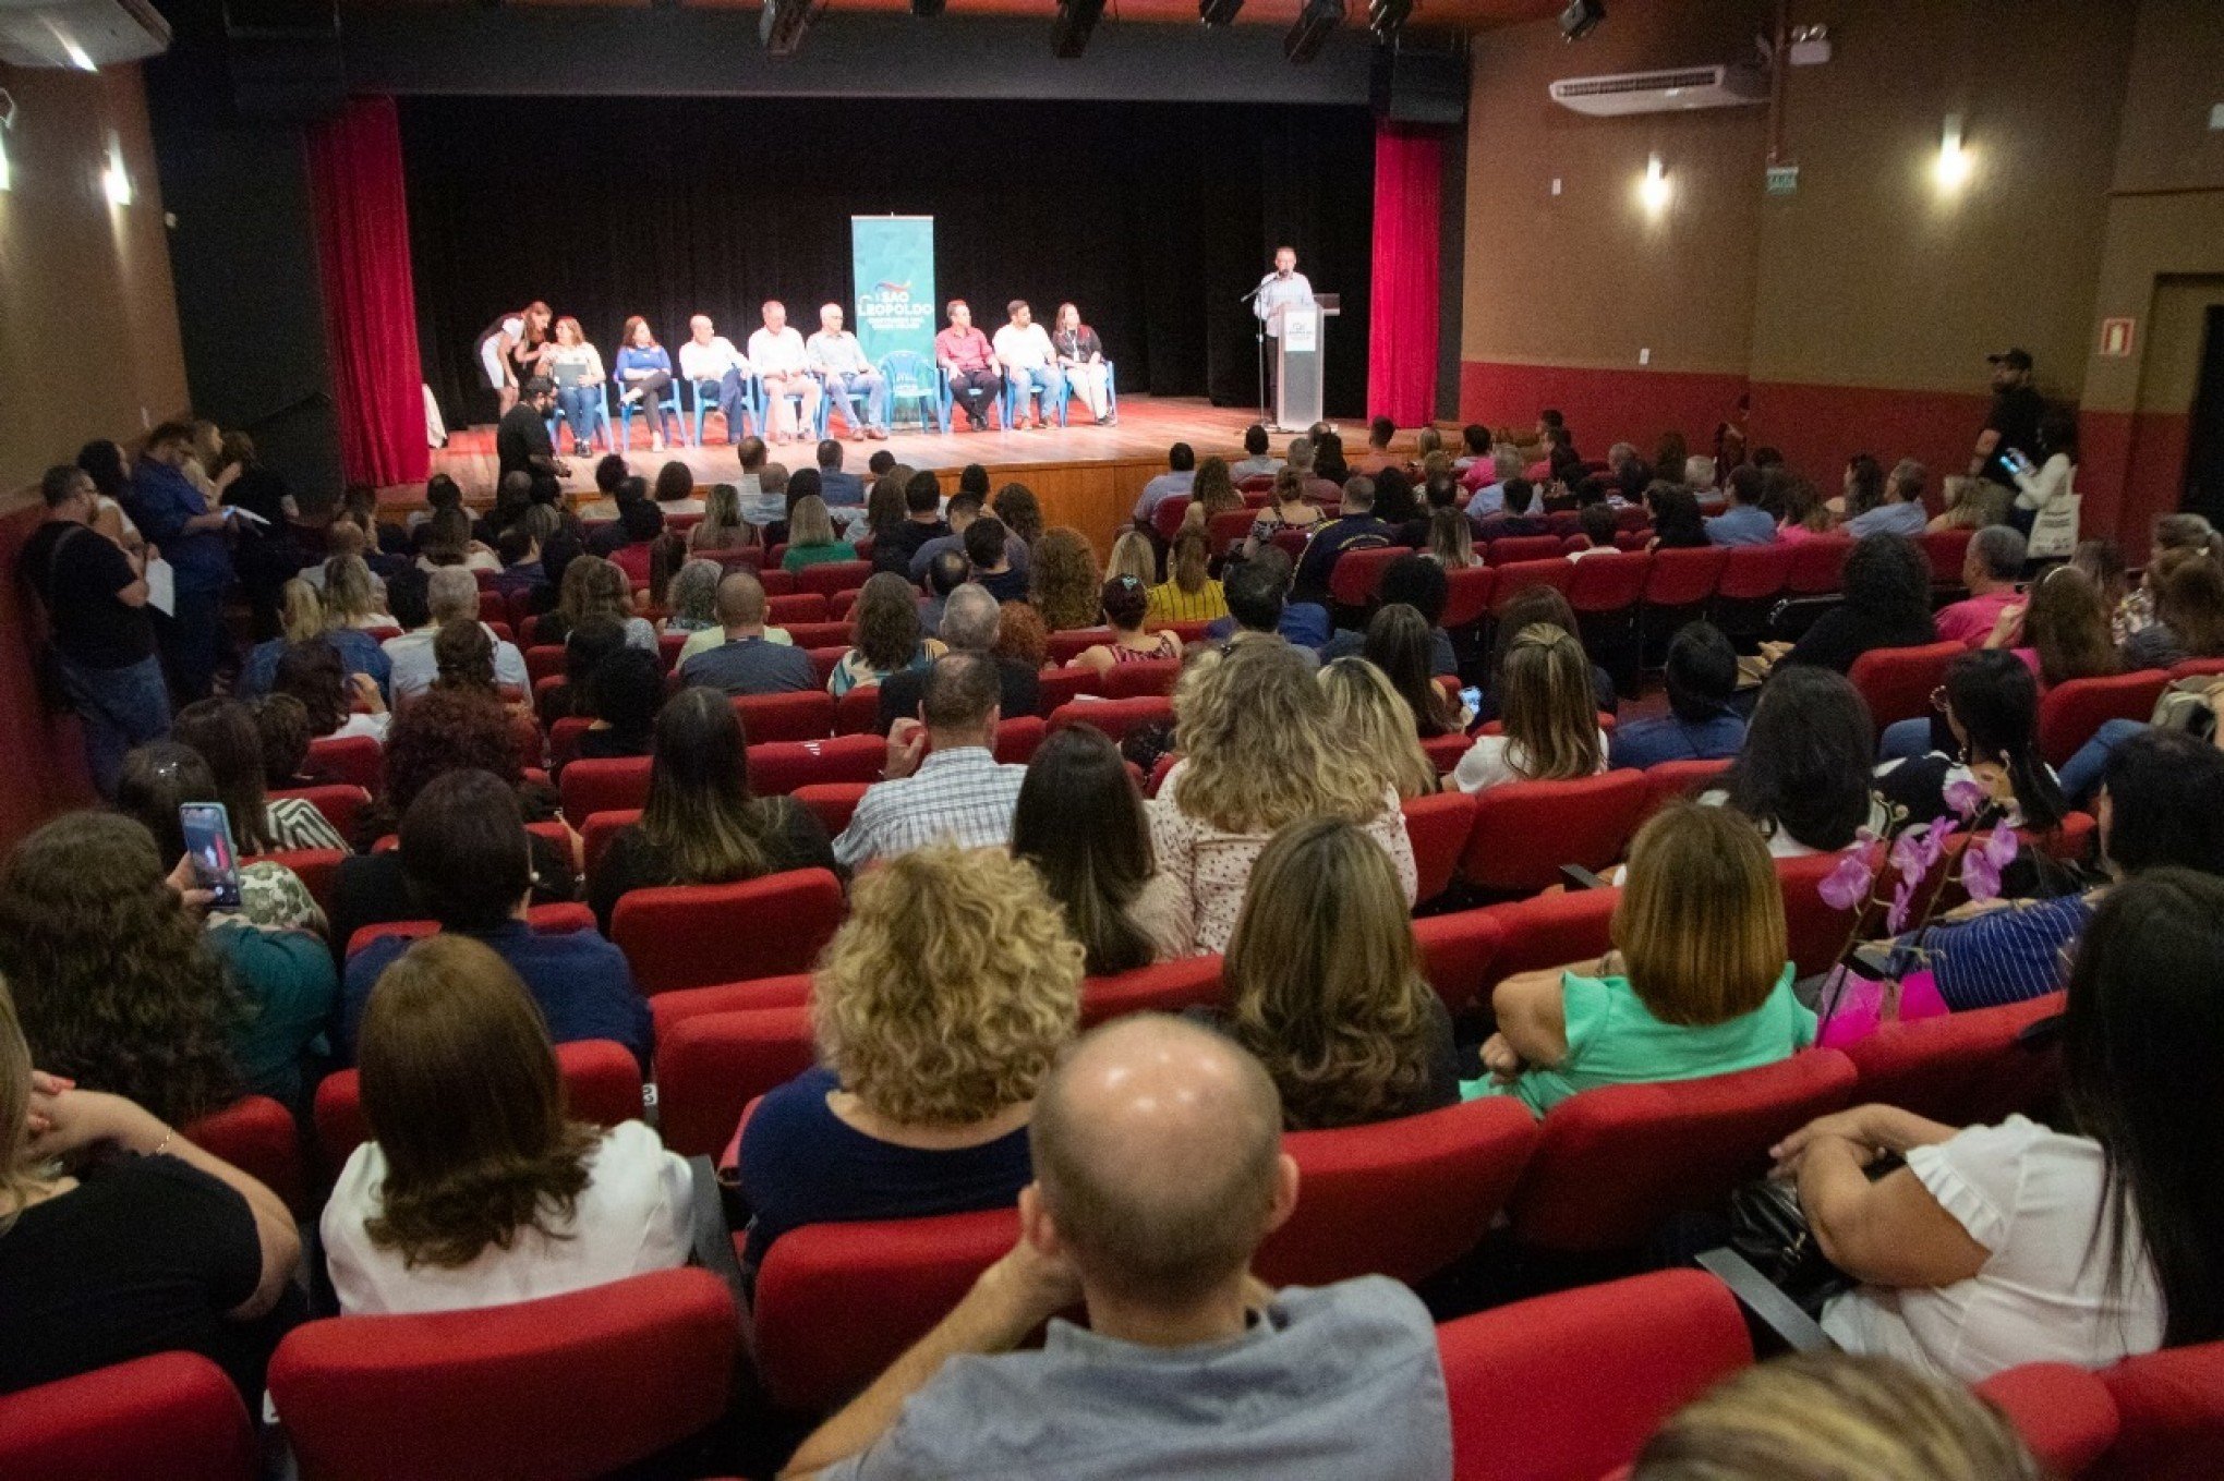
<instances>
[{"instance_id":1,"label":"balding man in grey-blue shirt in the foreground, seen from behind","mask_svg":"<svg viewBox=\"0 0 2224 1481\"><path fill-rule=\"evenodd\" d=\"M1019 1245L783 1474L1448 1481L1421 1301L1383 1276L1250 1274L1299 1199L1281 1121L1265 1072L1203 1027L1083 1038L1036 1103ZM1076 1301L1088 1330L1059 1316ZM1041 1352L1010 1352L1045 1321Z\"/></svg>"}]
</instances>

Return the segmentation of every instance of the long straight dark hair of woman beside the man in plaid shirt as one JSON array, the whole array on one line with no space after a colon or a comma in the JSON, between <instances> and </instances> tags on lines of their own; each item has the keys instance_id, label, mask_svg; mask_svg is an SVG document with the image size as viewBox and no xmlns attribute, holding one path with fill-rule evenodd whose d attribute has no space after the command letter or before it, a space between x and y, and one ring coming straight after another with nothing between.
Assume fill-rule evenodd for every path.
<instances>
[{"instance_id":1,"label":"long straight dark hair of woman beside the man in plaid shirt","mask_svg":"<svg viewBox=\"0 0 2224 1481\"><path fill-rule=\"evenodd\" d=\"M1159 961L1154 923L1139 914L1154 872L1143 794L1094 725L1068 725L1034 752L1012 812L1012 856L1034 865L1065 912L1090 976Z\"/></svg>"}]
</instances>

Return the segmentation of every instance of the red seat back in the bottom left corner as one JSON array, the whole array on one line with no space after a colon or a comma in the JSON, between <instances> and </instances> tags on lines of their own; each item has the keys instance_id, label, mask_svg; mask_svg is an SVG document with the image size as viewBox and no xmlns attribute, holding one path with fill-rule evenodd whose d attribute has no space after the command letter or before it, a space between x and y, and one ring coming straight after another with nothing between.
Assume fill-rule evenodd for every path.
<instances>
[{"instance_id":1,"label":"red seat back in the bottom left corner","mask_svg":"<svg viewBox=\"0 0 2224 1481\"><path fill-rule=\"evenodd\" d=\"M0 1396L0 1477L258 1481L262 1463L225 1370L158 1352Z\"/></svg>"}]
</instances>

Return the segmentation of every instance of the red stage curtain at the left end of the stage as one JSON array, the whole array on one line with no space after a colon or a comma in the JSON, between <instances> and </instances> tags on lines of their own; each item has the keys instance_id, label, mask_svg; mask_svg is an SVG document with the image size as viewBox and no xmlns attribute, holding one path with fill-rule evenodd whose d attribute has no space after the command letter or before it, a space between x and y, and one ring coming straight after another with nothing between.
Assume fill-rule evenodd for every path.
<instances>
[{"instance_id":1,"label":"red stage curtain at the left end of the stage","mask_svg":"<svg viewBox=\"0 0 2224 1481\"><path fill-rule=\"evenodd\" d=\"M340 465L351 483L418 483L431 471L431 451L391 98L356 98L309 129L309 196Z\"/></svg>"}]
</instances>

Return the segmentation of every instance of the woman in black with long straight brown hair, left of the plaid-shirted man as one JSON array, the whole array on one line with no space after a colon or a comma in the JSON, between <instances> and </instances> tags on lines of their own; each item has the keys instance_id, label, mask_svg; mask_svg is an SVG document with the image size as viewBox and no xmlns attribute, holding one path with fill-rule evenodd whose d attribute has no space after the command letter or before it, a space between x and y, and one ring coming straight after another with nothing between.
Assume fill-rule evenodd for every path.
<instances>
[{"instance_id":1,"label":"woman in black with long straight brown hair, left of the plaid-shirted man","mask_svg":"<svg viewBox=\"0 0 2224 1481\"><path fill-rule=\"evenodd\" d=\"M681 689L656 716L656 761L641 821L618 829L587 878L609 930L618 901L658 885L727 885L790 869L834 869L825 825L785 796L749 794L741 716L712 689Z\"/></svg>"}]
</instances>

